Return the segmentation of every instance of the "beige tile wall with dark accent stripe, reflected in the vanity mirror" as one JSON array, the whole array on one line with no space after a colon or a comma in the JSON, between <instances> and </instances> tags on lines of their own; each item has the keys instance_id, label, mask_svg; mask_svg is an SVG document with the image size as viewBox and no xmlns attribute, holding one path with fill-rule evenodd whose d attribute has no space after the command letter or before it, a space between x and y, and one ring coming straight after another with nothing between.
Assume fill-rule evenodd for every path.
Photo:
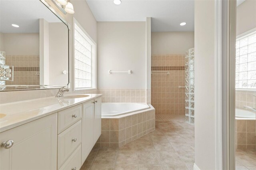
<instances>
[{"instance_id":1,"label":"beige tile wall with dark accent stripe, reflected in the vanity mirror","mask_svg":"<svg viewBox=\"0 0 256 170\"><path fill-rule=\"evenodd\" d=\"M14 81L6 85L39 85L39 55L6 55L5 63L14 66Z\"/></svg>"}]
</instances>

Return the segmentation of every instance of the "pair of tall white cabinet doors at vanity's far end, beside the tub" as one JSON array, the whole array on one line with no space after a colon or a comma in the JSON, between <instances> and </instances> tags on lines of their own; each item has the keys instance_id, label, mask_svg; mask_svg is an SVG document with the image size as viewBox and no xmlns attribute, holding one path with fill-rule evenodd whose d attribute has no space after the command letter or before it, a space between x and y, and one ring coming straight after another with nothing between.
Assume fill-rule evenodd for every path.
<instances>
[{"instance_id":1,"label":"pair of tall white cabinet doors at vanity's far end, beside the tub","mask_svg":"<svg viewBox=\"0 0 256 170\"><path fill-rule=\"evenodd\" d=\"M82 164L101 135L101 97L82 104Z\"/></svg>"}]
</instances>

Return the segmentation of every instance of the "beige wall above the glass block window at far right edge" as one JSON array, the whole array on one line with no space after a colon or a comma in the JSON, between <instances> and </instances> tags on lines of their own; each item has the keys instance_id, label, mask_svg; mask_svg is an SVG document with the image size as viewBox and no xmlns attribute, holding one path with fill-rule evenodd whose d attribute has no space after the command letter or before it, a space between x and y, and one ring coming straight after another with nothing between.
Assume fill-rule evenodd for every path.
<instances>
[{"instance_id":1,"label":"beige wall above the glass block window at far right edge","mask_svg":"<svg viewBox=\"0 0 256 170\"><path fill-rule=\"evenodd\" d=\"M236 9L236 35L256 28L256 0L246 0Z\"/></svg>"}]
</instances>

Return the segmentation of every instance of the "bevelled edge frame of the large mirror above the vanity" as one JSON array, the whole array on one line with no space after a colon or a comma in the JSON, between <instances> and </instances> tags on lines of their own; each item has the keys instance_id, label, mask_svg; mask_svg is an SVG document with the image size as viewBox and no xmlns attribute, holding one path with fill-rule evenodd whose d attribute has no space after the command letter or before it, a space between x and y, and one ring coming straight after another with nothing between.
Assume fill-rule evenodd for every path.
<instances>
[{"instance_id":1,"label":"bevelled edge frame of the large mirror above the vanity","mask_svg":"<svg viewBox=\"0 0 256 170\"><path fill-rule=\"evenodd\" d=\"M68 28L68 84L67 85L39 85L39 88L34 88L34 89L12 89L12 90L1 90L0 92L8 92L8 91L28 91L28 90L46 90L46 89L58 89L60 87L65 86L66 88L70 88L70 45L71 45L71 38L70 38L70 24L68 24L68 22L66 20L64 20L64 18L62 18L62 16L60 16L53 8L50 4L48 4L48 2L46 2L46 0L39 0L40 2L42 2L52 13L54 13L55 16L57 16ZM12 85L13 86L13 85ZM23 85L17 85L17 86L23 86ZM8 87L8 85L6 85L6 87ZM9 86L10 87L10 86Z\"/></svg>"}]
</instances>

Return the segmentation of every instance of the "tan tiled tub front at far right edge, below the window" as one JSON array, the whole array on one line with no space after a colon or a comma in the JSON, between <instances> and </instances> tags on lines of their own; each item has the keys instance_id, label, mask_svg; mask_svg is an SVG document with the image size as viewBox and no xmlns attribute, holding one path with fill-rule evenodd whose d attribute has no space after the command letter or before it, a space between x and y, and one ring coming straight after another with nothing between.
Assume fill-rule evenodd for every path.
<instances>
[{"instance_id":1,"label":"tan tiled tub front at far right edge, below the window","mask_svg":"<svg viewBox=\"0 0 256 170\"><path fill-rule=\"evenodd\" d=\"M236 120L236 148L256 149L255 120Z\"/></svg>"}]
</instances>

